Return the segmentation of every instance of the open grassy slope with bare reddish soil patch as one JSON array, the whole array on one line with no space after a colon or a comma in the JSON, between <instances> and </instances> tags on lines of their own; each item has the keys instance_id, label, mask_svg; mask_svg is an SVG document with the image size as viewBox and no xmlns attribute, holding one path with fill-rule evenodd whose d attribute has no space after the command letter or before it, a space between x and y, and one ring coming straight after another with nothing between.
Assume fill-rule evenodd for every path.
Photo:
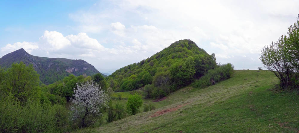
<instances>
[{"instance_id":1,"label":"open grassy slope with bare reddish soil patch","mask_svg":"<svg viewBox=\"0 0 299 133\"><path fill-rule=\"evenodd\" d=\"M278 83L275 75L261 71L256 82L256 71L237 70L231 79L204 89L182 88L153 103L155 110L77 132L298 132L298 94L271 91Z\"/></svg>"}]
</instances>

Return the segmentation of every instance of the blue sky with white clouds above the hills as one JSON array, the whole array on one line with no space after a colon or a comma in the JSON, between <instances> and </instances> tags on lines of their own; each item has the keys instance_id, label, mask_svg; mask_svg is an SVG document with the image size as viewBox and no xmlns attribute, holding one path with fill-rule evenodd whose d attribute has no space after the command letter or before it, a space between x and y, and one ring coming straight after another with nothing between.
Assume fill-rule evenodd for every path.
<instances>
[{"instance_id":1,"label":"blue sky with white clouds above the hills","mask_svg":"<svg viewBox=\"0 0 299 133\"><path fill-rule=\"evenodd\" d=\"M298 14L298 1L1 1L0 57L24 48L111 74L191 39L217 63L257 69L262 48L286 35Z\"/></svg>"}]
</instances>

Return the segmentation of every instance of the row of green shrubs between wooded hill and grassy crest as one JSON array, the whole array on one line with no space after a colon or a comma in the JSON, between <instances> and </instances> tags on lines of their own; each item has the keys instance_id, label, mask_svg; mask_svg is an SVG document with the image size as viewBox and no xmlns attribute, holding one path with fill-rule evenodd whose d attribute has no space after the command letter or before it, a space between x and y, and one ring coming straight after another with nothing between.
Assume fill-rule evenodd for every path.
<instances>
[{"instance_id":1,"label":"row of green shrubs between wooded hill and grassy crest","mask_svg":"<svg viewBox=\"0 0 299 133\"><path fill-rule=\"evenodd\" d=\"M205 88L214 85L216 82L230 78L233 71L234 66L231 63L219 65L217 68L209 70L208 73L199 80L193 82L192 86L195 88Z\"/></svg>"}]
</instances>

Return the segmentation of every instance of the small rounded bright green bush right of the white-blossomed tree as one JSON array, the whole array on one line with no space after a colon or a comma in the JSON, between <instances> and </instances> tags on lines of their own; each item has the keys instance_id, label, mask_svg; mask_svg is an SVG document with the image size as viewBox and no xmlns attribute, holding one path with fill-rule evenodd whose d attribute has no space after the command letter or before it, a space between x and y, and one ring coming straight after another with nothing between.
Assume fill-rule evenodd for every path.
<instances>
[{"instance_id":1,"label":"small rounded bright green bush right of the white-blossomed tree","mask_svg":"<svg viewBox=\"0 0 299 133\"><path fill-rule=\"evenodd\" d=\"M126 103L127 111L129 112L129 114L131 114L131 115L137 114L140 111L139 108L141 107L142 103L143 103L143 100L142 100L141 95L139 95L138 93L131 95L128 98L128 101Z\"/></svg>"}]
</instances>

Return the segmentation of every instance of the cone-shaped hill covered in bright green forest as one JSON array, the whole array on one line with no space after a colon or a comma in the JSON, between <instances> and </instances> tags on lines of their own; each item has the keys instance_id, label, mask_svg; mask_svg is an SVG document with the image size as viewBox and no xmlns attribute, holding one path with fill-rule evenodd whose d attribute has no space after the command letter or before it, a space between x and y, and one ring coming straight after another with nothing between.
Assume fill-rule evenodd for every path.
<instances>
[{"instance_id":1,"label":"cone-shaped hill covered in bright green forest","mask_svg":"<svg viewBox=\"0 0 299 133\"><path fill-rule=\"evenodd\" d=\"M177 82L174 87L181 87L215 67L214 54L209 55L195 42L184 39L172 43L147 59L120 68L106 80L115 91L135 90L152 82L155 82L155 87L171 82ZM175 81L176 78L182 79Z\"/></svg>"}]
</instances>

